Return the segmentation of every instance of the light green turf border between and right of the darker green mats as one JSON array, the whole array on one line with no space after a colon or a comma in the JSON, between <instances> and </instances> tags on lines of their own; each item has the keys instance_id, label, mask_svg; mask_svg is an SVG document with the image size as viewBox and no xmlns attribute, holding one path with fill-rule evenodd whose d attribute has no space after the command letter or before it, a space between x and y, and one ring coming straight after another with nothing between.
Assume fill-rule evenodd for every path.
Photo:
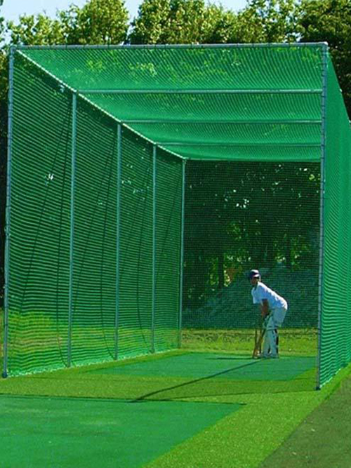
<instances>
[{"instance_id":1,"label":"light green turf border between and right of the darker green mats","mask_svg":"<svg viewBox=\"0 0 351 468\"><path fill-rule=\"evenodd\" d=\"M272 365L274 362L277 361L272 361ZM272 450L277 449L300 421L328 396L347 371L341 371L321 392L303 392L304 389L311 388L313 380L309 380L306 375L310 371L294 380L284 382L236 382L227 379L216 381L210 379L204 380L199 385L199 382L191 380L189 383L188 380L174 377L165 379L100 375L91 373L90 370L91 368L77 368L7 379L0 382L0 392L18 394L37 392L48 395L72 393L72 396L98 394L100 398L106 398L109 394L113 395L112 398L117 398L117 394L125 393L126 398L134 396L135 399L140 399L140 395L145 397L146 392L156 390L157 394L146 396L141 404L148 405L150 402L146 401L147 399L162 399L166 396L168 398L172 396L174 399L188 398L192 402L246 404L237 414L225 417L214 427L209 427L193 436L191 440L180 443L168 454L151 462L150 467L157 468L180 466L182 468L256 468ZM168 387L165 385L170 386L172 383L179 385L182 382L186 385L173 389L174 394L167 391L167 395L165 388ZM288 393L270 394L277 387L278 391Z\"/></svg>"}]
</instances>

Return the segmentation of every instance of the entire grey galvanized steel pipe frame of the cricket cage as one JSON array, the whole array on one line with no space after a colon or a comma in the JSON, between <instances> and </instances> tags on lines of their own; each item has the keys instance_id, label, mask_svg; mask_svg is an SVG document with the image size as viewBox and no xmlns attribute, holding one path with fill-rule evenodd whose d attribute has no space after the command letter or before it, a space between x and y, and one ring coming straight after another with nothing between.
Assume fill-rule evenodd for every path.
<instances>
[{"instance_id":1,"label":"entire grey galvanized steel pipe frame of the cricket cage","mask_svg":"<svg viewBox=\"0 0 351 468\"><path fill-rule=\"evenodd\" d=\"M326 43L309 43L309 44L201 44L201 45L167 45L167 46L84 46L88 49L113 49L113 48L251 48L251 47L311 47L316 46L322 48L323 55L323 76L322 76L322 89L310 90L178 90L176 93L318 93L322 95L322 121L298 121L298 123L321 123L322 124L322 146L321 145L282 145L282 146L298 146L298 147L321 147L322 160L321 160L321 201L320 201L320 245L319 245L319 312L318 312L318 376L317 388L320 387L320 353L321 353L321 326L322 326L322 300L323 300L323 248L324 248L324 192L325 192L325 158L326 158L326 55L328 46ZM82 46L13 46L10 49L10 66L9 66L9 93L8 93L8 172L7 172L7 202L6 202L6 249L5 249L5 315L4 315L4 370L3 376L7 376L8 372L8 284L9 284L9 262L10 262L10 248L9 243L11 240L11 154L12 154L12 136L13 136L13 66L15 60L15 51L25 51L26 49L74 49L82 48ZM93 107L98 108L104 114L110 116L118 123L117 131L117 278L116 278L116 323L115 323L115 359L118 358L118 326L119 326L119 240L120 240L120 210L121 210L121 131L122 126L125 126L136 135L141 135L137 131L128 126L128 123L138 123L139 121L119 121L116 117L104 111L88 100L84 94L90 93L174 93L175 90L74 90L67 86L66 83L60 81L56 76L48 72L48 70L41 67L37 62L28 58L25 54L21 54L27 60L35 64L39 69L50 75L55 81L61 83L69 91L72 91L72 174L71 174L71 227L70 227L70 241L69 241L69 326L68 326L68 351L67 351L67 366L72 364L72 314L73 314L73 279L74 279L74 179L75 179L75 159L76 159L76 137L77 137L77 98L80 97L89 102ZM140 121L140 123L157 123L157 121ZM162 121L162 123L164 123ZM184 123L184 121L180 121ZM204 122L206 123L206 122ZM213 122L210 122L213 123ZM244 123L237 122L235 123ZM250 122L255 123L255 122ZM260 122L261 123L261 122ZM272 123L272 122L267 122ZM280 123L280 122L279 122ZM291 122L290 122L291 123ZM126 125L127 124L127 125ZM141 135L143 136L143 135ZM170 152L164 148L163 145L187 145L186 143L178 142L154 142L149 138L143 137L153 145L153 260L152 260L152 352L154 352L154 325L155 325L155 302L156 302L156 177L157 177L157 145L166 152L177 156L182 159L182 200L181 200L181 232L180 232L180 297L179 297L179 319L178 319L178 346L181 347L181 330L182 330L182 309L183 309L183 261L184 261L184 223L185 223L185 168L186 159L176 153ZM194 144L192 144L194 145ZM206 144L205 144L206 146ZM225 145L225 146L253 146L251 145ZM270 145L267 145L270 146Z\"/></svg>"}]
</instances>

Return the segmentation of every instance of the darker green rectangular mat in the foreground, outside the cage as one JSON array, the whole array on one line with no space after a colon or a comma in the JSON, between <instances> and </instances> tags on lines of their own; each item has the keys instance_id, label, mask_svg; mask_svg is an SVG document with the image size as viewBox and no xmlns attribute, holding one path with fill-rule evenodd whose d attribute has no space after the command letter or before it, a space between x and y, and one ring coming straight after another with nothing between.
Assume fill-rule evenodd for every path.
<instances>
[{"instance_id":1,"label":"darker green rectangular mat in the foreground, outside the cage","mask_svg":"<svg viewBox=\"0 0 351 468\"><path fill-rule=\"evenodd\" d=\"M1 396L1 467L138 468L239 408Z\"/></svg>"}]
</instances>

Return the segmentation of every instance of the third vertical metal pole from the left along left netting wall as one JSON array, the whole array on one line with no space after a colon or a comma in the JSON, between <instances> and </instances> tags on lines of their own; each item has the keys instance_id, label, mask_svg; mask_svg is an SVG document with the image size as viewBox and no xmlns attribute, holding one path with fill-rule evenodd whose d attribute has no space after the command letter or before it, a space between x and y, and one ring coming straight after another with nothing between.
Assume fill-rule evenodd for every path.
<instances>
[{"instance_id":1,"label":"third vertical metal pole from the left along left netting wall","mask_svg":"<svg viewBox=\"0 0 351 468\"><path fill-rule=\"evenodd\" d=\"M119 263L121 241L121 172L122 172L122 126L117 127L117 215L116 215L116 316L114 319L114 359L118 359L119 341Z\"/></svg>"}]
</instances>

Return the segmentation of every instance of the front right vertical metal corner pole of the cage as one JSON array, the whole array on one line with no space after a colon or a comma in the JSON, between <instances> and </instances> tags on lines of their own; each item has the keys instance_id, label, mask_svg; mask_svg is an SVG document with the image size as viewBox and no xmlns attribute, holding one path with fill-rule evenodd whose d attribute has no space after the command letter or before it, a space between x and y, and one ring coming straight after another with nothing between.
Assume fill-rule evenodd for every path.
<instances>
[{"instance_id":1,"label":"front right vertical metal corner pole of the cage","mask_svg":"<svg viewBox=\"0 0 351 468\"><path fill-rule=\"evenodd\" d=\"M322 350L322 309L324 279L324 197L326 184L326 86L327 86L328 44L322 48L322 154L321 183L319 200L319 279L318 279L318 353L317 353L317 389L321 388L321 350Z\"/></svg>"}]
</instances>

